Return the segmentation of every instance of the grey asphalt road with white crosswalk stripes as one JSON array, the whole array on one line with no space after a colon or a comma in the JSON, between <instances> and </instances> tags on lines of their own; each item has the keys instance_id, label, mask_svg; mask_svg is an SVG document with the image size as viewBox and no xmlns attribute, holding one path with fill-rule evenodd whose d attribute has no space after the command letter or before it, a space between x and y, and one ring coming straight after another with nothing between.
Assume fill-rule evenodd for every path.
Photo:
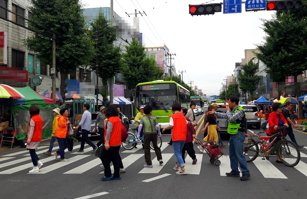
<instances>
[{"instance_id":1,"label":"grey asphalt road with white crosswalk stripes","mask_svg":"<svg viewBox=\"0 0 307 199\"><path fill-rule=\"evenodd\" d=\"M202 139L203 115L196 117L199 125L197 137ZM134 127L134 125L131 125ZM259 132L255 128L249 131ZM307 146L307 135L295 131L298 144ZM229 135L222 135L223 143L229 143ZM91 138L95 143L96 140ZM101 161L91 153L86 145L85 153L75 143L72 152L66 152L69 162L56 161L53 156L43 152L49 144L41 144L37 150L44 166L39 173L28 174L32 162L29 152L24 148L13 149L10 154L0 152L0 198L306 198L307 191L307 147L301 149L301 162L295 167L270 161L255 160L247 163L251 179L240 181L238 177L227 177L230 171L229 147L223 148L227 156L220 158L221 165L209 162L206 153L200 153L194 144L197 155L196 165L186 158L187 175L176 175L173 166L176 157L173 147L168 145L170 135L162 135L162 157L164 164L158 165L156 155L151 153L153 168L143 168L144 152L138 149L120 149L126 173L120 174L121 180L101 181L104 175L99 165ZM55 143L54 150L58 144ZM5 150L7 151L7 150ZM2 154L1 154L2 153ZM92 195L95 194L95 195Z\"/></svg>"}]
</instances>

